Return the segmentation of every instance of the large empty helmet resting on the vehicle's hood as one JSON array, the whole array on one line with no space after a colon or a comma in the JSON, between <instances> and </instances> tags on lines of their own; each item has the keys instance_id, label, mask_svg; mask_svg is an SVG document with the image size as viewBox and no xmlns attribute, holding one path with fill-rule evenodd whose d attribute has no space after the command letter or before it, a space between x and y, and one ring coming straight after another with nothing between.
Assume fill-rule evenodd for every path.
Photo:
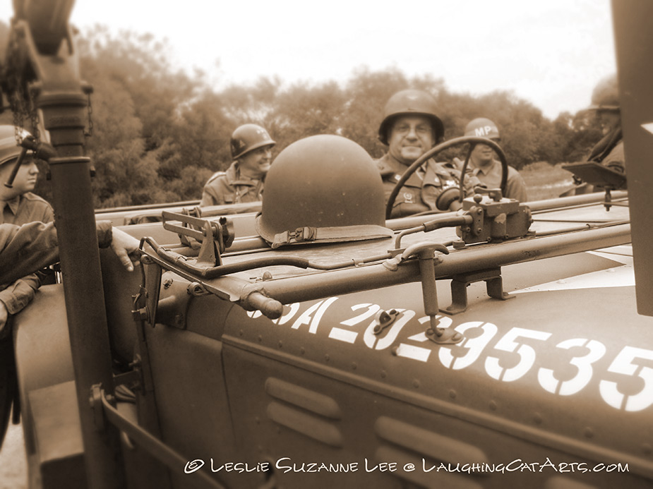
<instances>
[{"instance_id":1,"label":"large empty helmet resting on the vehicle's hood","mask_svg":"<svg viewBox=\"0 0 653 489\"><path fill-rule=\"evenodd\" d=\"M390 237L381 174L352 140L300 139L279 153L265 177L256 231L272 248Z\"/></svg>"}]
</instances>

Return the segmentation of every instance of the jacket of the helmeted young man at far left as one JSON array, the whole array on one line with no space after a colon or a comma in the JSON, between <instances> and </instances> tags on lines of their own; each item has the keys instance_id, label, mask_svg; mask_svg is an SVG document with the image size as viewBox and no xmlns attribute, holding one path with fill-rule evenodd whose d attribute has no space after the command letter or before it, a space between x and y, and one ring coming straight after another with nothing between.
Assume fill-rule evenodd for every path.
<instances>
[{"instance_id":1,"label":"jacket of the helmeted young man at far left","mask_svg":"<svg viewBox=\"0 0 653 489\"><path fill-rule=\"evenodd\" d=\"M54 213L46 200L27 192L12 200L0 201L2 212L0 224L27 224L28 222L52 222ZM16 282L0 285L0 301L8 313L17 314L34 298L34 292L41 286L38 274L32 273Z\"/></svg>"}]
</instances>

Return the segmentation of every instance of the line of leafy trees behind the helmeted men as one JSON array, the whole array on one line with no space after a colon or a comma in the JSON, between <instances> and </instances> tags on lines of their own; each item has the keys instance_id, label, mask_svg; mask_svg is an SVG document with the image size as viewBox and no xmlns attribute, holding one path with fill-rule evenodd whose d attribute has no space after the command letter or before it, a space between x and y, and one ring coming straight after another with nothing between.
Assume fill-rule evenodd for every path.
<instances>
[{"instance_id":1,"label":"line of leafy trees behind the helmeted men","mask_svg":"<svg viewBox=\"0 0 653 489\"><path fill-rule=\"evenodd\" d=\"M309 135L338 134L381 157L385 146L377 133L385 102L409 87L436 96L447 139L463 135L471 119L492 119L517 169L580 161L601 134L587 112L564 112L551 121L512 92L474 97L455 92L442 78L409 78L397 68L359 68L346 83L261 77L217 90L205 73L189 75L172 66L169 46L152 35L116 36L96 26L79 35L78 50L81 73L94 87L88 156L96 171L97 208L200 198L210 175L231 163L229 138L242 123L267 128L276 154ZM11 123L6 114L2 119ZM47 183L37 191L47 198Z\"/></svg>"}]
</instances>

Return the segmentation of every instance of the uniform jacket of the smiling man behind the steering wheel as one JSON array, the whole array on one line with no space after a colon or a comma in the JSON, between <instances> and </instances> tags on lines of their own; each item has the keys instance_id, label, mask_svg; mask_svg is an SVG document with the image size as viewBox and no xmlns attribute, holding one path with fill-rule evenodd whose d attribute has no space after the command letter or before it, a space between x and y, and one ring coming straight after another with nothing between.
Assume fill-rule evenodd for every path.
<instances>
[{"instance_id":1,"label":"uniform jacket of the smiling man behind the steering wheel","mask_svg":"<svg viewBox=\"0 0 653 489\"><path fill-rule=\"evenodd\" d=\"M407 168L390 153L386 153L376 160L381 179L383 179L386 202L397 181L401 178L401 174L395 172L398 164ZM436 163L433 159L428 159L425 164L426 169L423 165L415 171L397 194L390 217L405 217L429 210L437 211L438 196L446 189L458 186L460 171L449 169L441 163ZM466 181L468 183L465 185L467 190L471 187L471 182L469 178Z\"/></svg>"}]
</instances>

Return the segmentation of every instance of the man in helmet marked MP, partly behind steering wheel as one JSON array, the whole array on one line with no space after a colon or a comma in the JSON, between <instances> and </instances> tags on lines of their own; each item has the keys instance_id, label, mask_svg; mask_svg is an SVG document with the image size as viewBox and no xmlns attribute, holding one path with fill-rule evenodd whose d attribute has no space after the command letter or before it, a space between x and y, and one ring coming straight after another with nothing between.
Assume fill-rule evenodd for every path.
<instances>
[{"instance_id":1,"label":"man in helmet marked MP, partly behind steering wheel","mask_svg":"<svg viewBox=\"0 0 653 489\"><path fill-rule=\"evenodd\" d=\"M466 136L477 136L488 138L498 143L501 140L499 130L493 121L479 117L470 121L465 127ZM469 163L472 165L472 175L484 183L488 188L499 188L501 186L501 162L496 159L494 150L489 145L477 144L469 156ZM511 199L526 202L526 183L519 171L508 167L508 181L505 183L505 195Z\"/></svg>"}]
</instances>

